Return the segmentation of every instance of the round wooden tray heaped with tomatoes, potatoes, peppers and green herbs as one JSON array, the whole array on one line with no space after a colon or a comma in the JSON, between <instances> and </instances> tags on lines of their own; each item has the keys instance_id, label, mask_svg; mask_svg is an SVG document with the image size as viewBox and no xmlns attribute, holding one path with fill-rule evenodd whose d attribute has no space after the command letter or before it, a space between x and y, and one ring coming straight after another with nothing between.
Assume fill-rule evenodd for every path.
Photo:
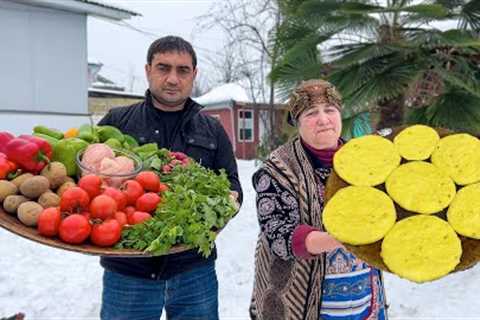
<instances>
[{"instance_id":1,"label":"round wooden tray heaped with tomatoes, potatoes, peppers and green herbs","mask_svg":"<svg viewBox=\"0 0 480 320\"><path fill-rule=\"evenodd\" d=\"M55 248L208 256L237 212L229 188L224 172L153 143L138 146L110 126L68 136L44 127L19 137L0 132L0 227Z\"/></svg>"}]
</instances>

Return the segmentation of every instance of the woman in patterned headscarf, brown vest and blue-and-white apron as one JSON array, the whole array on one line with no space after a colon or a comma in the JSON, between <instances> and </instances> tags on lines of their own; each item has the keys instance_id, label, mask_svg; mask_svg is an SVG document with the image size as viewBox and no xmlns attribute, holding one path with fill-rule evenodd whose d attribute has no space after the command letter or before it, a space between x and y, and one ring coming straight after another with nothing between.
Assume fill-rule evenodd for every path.
<instances>
[{"instance_id":1,"label":"woman in patterned headscarf, brown vest and blue-and-white apron","mask_svg":"<svg viewBox=\"0 0 480 320\"><path fill-rule=\"evenodd\" d=\"M289 101L298 136L273 151L253 176L261 232L252 319L386 319L379 270L323 231L324 190L342 144L341 97L309 80Z\"/></svg>"}]
</instances>

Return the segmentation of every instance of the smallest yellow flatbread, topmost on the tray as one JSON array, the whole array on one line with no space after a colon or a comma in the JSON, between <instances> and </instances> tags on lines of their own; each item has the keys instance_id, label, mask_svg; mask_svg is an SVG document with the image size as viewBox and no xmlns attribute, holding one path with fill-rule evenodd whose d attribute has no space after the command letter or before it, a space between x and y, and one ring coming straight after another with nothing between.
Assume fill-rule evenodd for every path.
<instances>
[{"instance_id":1,"label":"smallest yellow flatbread, topmost on the tray","mask_svg":"<svg viewBox=\"0 0 480 320\"><path fill-rule=\"evenodd\" d=\"M398 153L406 160L426 160L437 146L440 136L437 131L424 125L403 129L393 139Z\"/></svg>"}]
</instances>

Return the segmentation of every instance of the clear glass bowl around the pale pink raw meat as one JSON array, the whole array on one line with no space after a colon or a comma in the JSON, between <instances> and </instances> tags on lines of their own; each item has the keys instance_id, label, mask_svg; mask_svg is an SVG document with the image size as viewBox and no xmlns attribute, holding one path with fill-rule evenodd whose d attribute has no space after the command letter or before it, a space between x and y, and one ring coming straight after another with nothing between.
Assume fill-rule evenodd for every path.
<instances>
[{"instance_id":1,"label":"clear glass bowl around the pale pink raw meat","mask_svg":"<svg viewBox=\"0 0 480 320\"><path fill-rule=\"evenodd\" d=\"M77 166L78 166L78 172L77 172L78 177L81 178L87 174L95 174L100 178L102 178L105 185L109 187L118 188L121 186L121 184L124 181L135 178L136 175L140 173L140 171L142 171L143 169L142 160L139 157L137 157L135 154L125 150L119 150L114 148L111 148L111 149L115 153L115 157L124 156L133 160L133 163L134 163L133 171L129 173L124 173L124 174L108 174L108 173L99 172L95 168L87 167L85 166L85 164L82 163L82 157L86 150L85 149L83 151L78 152L77 156L75 157L75 162L77 163Z\"/></svg>"}]
</instances>

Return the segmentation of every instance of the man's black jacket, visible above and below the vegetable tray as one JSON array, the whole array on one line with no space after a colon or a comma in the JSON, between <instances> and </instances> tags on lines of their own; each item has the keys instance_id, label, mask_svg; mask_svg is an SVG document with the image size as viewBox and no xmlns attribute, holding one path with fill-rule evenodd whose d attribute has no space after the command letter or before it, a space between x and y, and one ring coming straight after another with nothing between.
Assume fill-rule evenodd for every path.
<instances>
[{"instance_id":1,"label":"man's black jacket, visible above and below the vegetable tray","mask_svg":"<svg viewBox=\"0 0 480 320\"><path fill-rule=\"evenodd\" d=\"M170 141L165 141L158 134L157 128L161 121L158 120L158 110L154 108L148 91L145 101L111 109L99 125L115 126L122 132L135 137L140 144L156 142L160 148L184 152L207 168L225 169L231 189L239 193L241 203L242 189L230 140L218 120L199 112L202 108L192 99L187 99L181 120L172 133ZM168 279L175 274L214 260L216 256L216 250L208 258L203 258L196 250L189 250L152 258L102 257L100 263L108 270L125 275Z\"/></svg>"}]
</instances>

